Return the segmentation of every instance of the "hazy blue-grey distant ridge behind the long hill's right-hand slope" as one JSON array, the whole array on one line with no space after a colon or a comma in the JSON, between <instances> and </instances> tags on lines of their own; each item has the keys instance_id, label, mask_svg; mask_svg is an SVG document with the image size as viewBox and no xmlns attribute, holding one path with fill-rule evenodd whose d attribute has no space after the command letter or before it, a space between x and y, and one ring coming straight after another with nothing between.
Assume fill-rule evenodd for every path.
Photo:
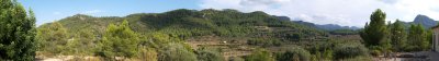
<instances>
[{"instance_id":1,"label":"hazy blue-grey distant ridge behind the long hill's right-hand slope","mask_svg":"<svg viewBox=\"0 0 439 61\"><path fill-rule=\"evenodd\" d=\"M277 16L279 20L291 20L288 16ZM359 27L356 26L340 26L337 24L324 24L324 25L319 25L319 24L314 24L314 23L309 23L309 22L304 22L304 21L293 21L294 23L297 24L302 24L302 25L306 25L309 27L315 27L315 28L319 28L319 29L325 29L325 30L335 30L335 29L359 29Z\"/></svg>"}]
</instances>

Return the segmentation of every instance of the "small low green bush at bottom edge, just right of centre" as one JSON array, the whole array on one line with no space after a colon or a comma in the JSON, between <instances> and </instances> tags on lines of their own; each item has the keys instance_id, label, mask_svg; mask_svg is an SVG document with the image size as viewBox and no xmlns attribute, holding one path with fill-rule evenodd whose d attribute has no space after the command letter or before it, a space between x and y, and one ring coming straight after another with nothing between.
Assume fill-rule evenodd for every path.
<instances>
[{"instance_id":1,"label":"small low green bush at bottom edge, just right of centre","mask_svg":"<svg viewBox=\"0 0 439 61\"><path fill-rule=\"evenodd\" d=\"M246 61L274 61L274 59L271 57L269 51L259 49L248 56Z\"/></svg>"}]
</instances>

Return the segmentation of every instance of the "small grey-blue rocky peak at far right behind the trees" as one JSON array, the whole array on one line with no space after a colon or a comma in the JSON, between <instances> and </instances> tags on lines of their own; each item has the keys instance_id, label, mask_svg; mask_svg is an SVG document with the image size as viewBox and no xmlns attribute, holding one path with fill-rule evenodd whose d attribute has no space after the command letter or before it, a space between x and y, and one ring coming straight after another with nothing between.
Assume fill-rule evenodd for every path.
<instances>
[{"instance_id":1,"label":"small grey-blue rocky peak at far right behind the trees","mask_svg":"<svg viewBox=\"0 0 439 61\"><path fill-rule=\"evenodd\" d=\"M425 28L430 28L438 25L438 21L435 21L426 15L417 15L410 24L423 24Z\"/></svg>"}]
</instances>

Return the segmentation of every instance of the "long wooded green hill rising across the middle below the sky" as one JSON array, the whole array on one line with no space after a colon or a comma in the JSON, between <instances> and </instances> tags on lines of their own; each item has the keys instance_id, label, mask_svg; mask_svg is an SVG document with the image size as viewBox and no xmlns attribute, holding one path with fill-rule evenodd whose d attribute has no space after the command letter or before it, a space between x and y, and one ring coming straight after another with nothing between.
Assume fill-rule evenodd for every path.
<instances>
[{"instance_id":1,"label":"long wooded green hill rising across the middle below the sky","mask_svg":"<svg viewBox=\"0 0 439 61\"><path fill-rule=\"evenodd\" d=\"M136 13L127 16L90 16L77 14L63 20L60 24L74 36L87 29L100 36L105 27L127 20L130 27L143 35L154 32L167 33L189 40L202 36L240 37L241 40L263 38L274 40L317 40L325 38L327 32L280 20L264 12L243 13L236 10L187 10L179 9L165 13ZM38 28L47 28L50 23Z\"/></svg>"}]
</instances>

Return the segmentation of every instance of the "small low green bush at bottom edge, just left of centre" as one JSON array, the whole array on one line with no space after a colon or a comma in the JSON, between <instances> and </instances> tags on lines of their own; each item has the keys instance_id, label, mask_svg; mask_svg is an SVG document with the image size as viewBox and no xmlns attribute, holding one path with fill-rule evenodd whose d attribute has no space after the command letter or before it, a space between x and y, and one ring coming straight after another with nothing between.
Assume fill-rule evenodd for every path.
<instances>
[{"instance_id":1,"label":"small low green bush at bottom edge, just left of centre","mask_svg":"<svg viewBox=\"0 0 439 61\"><path fill-rule=\"evenodd\" d=\"M225 61L224 57L217 51L211 50L198 50L196 51L199 61Z\"/></svg>"}]
</instances>

